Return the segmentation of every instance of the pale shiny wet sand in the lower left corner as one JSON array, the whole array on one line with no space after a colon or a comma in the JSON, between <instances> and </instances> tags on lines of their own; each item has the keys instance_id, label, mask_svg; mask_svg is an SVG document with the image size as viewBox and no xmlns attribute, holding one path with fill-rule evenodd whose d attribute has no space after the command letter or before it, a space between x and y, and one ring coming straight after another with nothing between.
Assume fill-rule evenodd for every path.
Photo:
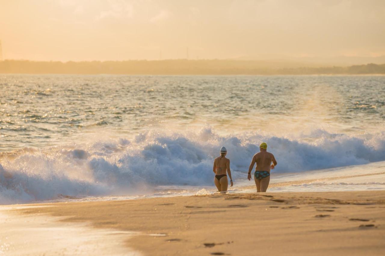
<instances>
[{"instance_id":1,"label":"pale shiny wet sand in the lower left corner","mask_svg":"<svg viewBox=\"0 0 385 256\"><path fill-rule=\"evenodd\" d=\"M46 214L17 213L25 207L0 206L0 255L142 255L127 247L127 238L134 232L62 222L63 217Z\"/></svg>"}]
</instances>

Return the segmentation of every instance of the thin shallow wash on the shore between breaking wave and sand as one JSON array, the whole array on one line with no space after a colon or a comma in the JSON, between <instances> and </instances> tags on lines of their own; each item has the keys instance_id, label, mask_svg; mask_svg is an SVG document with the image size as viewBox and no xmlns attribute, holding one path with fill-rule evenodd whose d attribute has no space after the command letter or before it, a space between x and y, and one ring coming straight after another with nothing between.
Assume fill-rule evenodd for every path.
<instances>
[{"instance_id":1,"label":"thin shallow wash on the shore between breaking wave and sand","mask_svg":"<svg viewBox=\"0 0 385 256\"><path fill-rule=\"evenodd\" d=\"M363 166L366 166L363 168ZM370 170L368 170L370 168ZM273 173L268 193L295 193L295 192L338 192L338 191L385 191L385 161L368 163L366 165L342 166L336 168L313 170L297 173ZM364 171L365 170L365 171ZM370 171L368 173L368 171ZM365 173L367 172L367 173ZM254 193L256 192L254 180L242 179L235 172L236 186L229 188L230 194ZM0 170L0 176L12 179L12 173ZM246 175L244 175L246 176ZM0 177L1 180L1 177ZM46 200L35 201L10 201L5 200L0 206L13 204L50 204L61 202L86 202L86 201L119 201L144 198L163 198L175 196L194 196L213 194L216 188L213 185L202 186L157 186L152 190L144 190L139 194L109 194L109 195L67 195L57 194L56 197ZM1 199L1 196L0 196Z\"/></svg>"}]
</instances>

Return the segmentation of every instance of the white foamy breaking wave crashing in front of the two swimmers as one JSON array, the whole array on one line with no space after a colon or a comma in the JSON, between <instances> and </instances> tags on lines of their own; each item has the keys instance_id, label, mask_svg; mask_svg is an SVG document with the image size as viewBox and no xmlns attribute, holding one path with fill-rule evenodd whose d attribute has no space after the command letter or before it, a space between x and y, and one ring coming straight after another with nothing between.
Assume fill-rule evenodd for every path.
<instances>
[{"instance_id":1,"label":"white foamy breaking wave crashing in front of the two swimmers","mask_svg":"<svg viewBox=\"0 0 385 256\"><path fill-rule=\"evenodd\" d=\"M212 185L213 158L221 146L228 149L237 180L247 171L261 141L266 141L278 161L273 173L385 160L384 131L352 136L315 130L281 138L257 132L219 136L209 127L186 133L149 130L131 141L99 140L3 154L0 203L146 195L157 193L162 185Z\"/></svg>"}]
</instances>

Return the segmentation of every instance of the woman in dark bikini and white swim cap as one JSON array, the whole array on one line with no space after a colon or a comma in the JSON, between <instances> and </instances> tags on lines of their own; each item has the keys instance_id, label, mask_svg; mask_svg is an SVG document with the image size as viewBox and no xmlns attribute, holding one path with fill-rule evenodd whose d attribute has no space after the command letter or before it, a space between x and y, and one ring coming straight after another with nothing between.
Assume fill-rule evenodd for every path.
<instances>
[{"instance_id":1,"label":"woman in dark bikini and white swim cap","mask_svg":"<svg viewBox=\"0 0 385 256\"><path fill-rule=\"evenodd\" d=\"M226 171L230 177L231 187L233 186L233 179L231 178L230 160L226 158L227 150L225 147L221 148L221 156L214 159L213 172L215 173L214 183L218 191L227 191L228 181Z\"/></svg>"}]
</instances>

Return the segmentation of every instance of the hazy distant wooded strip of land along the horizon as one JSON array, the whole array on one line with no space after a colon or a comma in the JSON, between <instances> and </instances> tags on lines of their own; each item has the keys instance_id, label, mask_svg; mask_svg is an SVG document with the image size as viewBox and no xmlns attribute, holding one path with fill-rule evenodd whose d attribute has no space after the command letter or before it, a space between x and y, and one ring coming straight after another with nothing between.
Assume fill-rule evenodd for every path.
<instances>
[{"instance_id":1,"label":"hazy distant wooded strip of land along the horizon","mask_svg":"<svg viewBox=\"0 0 385 256\"><path fill-rule=\"evenodd\" d=\"M358 75L385 74L385 64L347 67L263 67L244 60L129 60L92 62L0 61L0 73L122 75Z\"/></svg>"}]
</instances>

